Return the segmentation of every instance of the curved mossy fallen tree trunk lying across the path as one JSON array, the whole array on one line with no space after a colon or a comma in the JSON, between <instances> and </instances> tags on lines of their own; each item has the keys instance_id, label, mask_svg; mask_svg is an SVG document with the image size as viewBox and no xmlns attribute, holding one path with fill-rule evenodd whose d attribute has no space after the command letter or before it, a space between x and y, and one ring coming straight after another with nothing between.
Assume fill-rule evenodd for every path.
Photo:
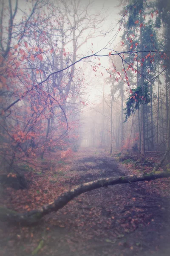
<instances>
[{"instance_id":1,"label":"curved mossy fallen tree trunk lying across the path","mask_svg":"<svg viewBox=\"0 0 170 256\"><path fill-rule=\"evenodd\" d=\"M73 198L81 195L84 192L98 189L103 186L110 186L122 183L132 183L136 181L155 180L159 178L170 177L170 172L151 172L144 175L129 175L122 177L109 177L99 180L90 181L74 187L63 195L59 196L55 201L50 204L44 205L39 209L35 209L29 212L18 213L5 207L0 207L0 219L20 224L33 224L39 221L44 215L57 211L64 207Z\"/></svg>"}]
</instances>

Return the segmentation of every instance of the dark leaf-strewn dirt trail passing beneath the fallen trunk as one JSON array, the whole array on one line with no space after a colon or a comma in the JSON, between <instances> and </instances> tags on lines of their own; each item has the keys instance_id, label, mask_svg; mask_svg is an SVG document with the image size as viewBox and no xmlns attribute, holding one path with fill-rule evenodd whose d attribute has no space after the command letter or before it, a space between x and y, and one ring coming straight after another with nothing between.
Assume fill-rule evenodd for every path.
<instances>
[{"instance_id":1,"label":"dark leaf-strewn dirt trail passing beneath the fallen trunk","mask_svg":"<svg viewBox=\"0 0 170 256\"><path fill-rule=\"evenodd\" d=\"M131 174L103 150L81 150L72 162L68 172L73 182L65 182L70 187ZM159 193L156 181L100 188L47 215L36 227L24 229L27 238L22 237L21 227L12 231L6 227L12 234L2 242L2 255L30 256L43 239L38 253L42 256L169 256L170 196Z\"/></svg>"}]
</instances>

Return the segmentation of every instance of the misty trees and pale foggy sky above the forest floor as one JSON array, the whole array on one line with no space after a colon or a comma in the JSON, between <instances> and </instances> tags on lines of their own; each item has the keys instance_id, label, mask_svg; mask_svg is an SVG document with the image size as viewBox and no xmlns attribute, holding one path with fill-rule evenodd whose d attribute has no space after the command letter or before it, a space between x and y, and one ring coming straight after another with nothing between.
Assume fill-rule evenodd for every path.
<instances>
[{"instance_id":1,"label":"misty trees and pale foggy sky above the forest floor","mask_svg":"<svg viewBox=\"0 0 170 256\"><path fill-rule=\"evenodd\" d=\"M0 78L9 163L16 148L43 157L49 145L164 150L168 18L159 3L9 3L1 1Z\"/></svg>"}]
</instances>

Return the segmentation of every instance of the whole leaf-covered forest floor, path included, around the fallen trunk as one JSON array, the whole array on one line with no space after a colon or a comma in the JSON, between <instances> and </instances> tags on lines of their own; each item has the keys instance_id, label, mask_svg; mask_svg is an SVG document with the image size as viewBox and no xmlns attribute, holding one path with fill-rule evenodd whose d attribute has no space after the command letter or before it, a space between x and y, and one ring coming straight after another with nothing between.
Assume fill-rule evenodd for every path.
<instances>
[{"instance_id":1,"label":"whole leaf-covered forest floor, path included, around the fallen trunk","mask_svg":"<svg viewBox=\"0 0 170 256\"><path fill-rule=\"evenodd\" d=\"M139 161L120 163L103 149L82 148L65 160L52 153L50 166L45 157L32 169L23 167L29 189L3 188L0 204L25 212L78 184L153 168ZM85 192L31 227L0 222L0 255L169 256L169 236L170 179L163 178Z\"/></svg>"}]
</instances>

